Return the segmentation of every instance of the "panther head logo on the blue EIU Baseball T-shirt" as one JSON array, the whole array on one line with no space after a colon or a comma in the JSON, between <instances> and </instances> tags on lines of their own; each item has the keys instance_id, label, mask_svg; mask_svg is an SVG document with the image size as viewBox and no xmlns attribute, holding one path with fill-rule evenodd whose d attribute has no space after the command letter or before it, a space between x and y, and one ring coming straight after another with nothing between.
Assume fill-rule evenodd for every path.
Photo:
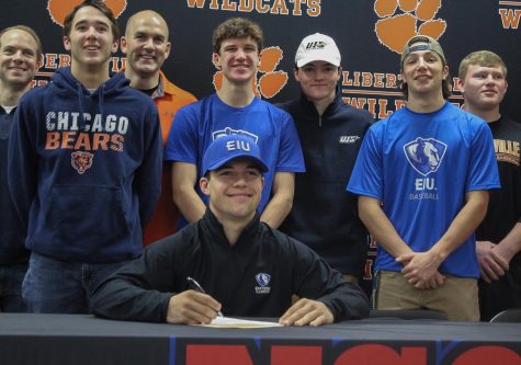
<instances>
[{"instance_id":1,"label":"panther head logo on the blue EIU Baseball T-shirt","mask_svg":"<svg viewBox=\"0 0 521 365\"><path fill-rule=\"evenodd\" d=\"M418 137L404 146L407 160L423 176L438 171L445 151L446 145L434 138Z\"/></svg>"}]
</instances>

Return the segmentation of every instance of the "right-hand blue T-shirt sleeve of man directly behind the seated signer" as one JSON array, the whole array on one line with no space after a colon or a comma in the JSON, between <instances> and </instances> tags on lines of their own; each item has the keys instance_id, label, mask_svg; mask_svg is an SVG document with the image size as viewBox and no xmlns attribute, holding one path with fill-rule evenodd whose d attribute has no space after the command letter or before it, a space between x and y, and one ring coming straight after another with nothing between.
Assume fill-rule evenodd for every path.
<instances>
[{"instance_id":1,"label":"right-hand blue T-shirt sleeve of man directly behind the seated signer","mask_svg":"<svg viewBox=\"0 0 521 365\"><path fill-rule=\"evenodd\" d=\"M292 116L283 112L283 129L281 130L281 146L275 172L305 172L304 156L301 140Z\"/></svg>"}]
</instances>

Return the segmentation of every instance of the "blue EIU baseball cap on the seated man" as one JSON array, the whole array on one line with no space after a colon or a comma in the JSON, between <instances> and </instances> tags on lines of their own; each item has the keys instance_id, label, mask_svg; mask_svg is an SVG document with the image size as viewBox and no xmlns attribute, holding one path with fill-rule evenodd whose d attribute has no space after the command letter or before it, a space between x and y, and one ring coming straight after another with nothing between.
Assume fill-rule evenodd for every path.
<instances>
[{"instance_id":1,"label":"blue EIU baseball cap on the seated man","mask_svg":"<svg viewBox=\"0 0 521 365\"><path fill-rule=\"evenodd\" d=\"M216 138L204 152L203 175L237 158L252 160L262 172L268 171L268 166L260 155L259 146L253 139L242 135L226 135Z\"/></svg>"}]
</instances>

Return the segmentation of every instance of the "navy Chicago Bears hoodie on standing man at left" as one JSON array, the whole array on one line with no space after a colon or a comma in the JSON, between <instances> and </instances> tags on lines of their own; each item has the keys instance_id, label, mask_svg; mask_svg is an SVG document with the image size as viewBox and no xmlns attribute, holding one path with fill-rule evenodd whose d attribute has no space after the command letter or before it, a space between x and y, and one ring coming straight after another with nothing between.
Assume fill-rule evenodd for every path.
<instances>
[{"instance_id":1,"label":"navy Chicago Bears hoodie on standing man at left","mask_svg":"<svg viewBox=\"0 0 521 365\"><path fill-rule=\"evenodd\" d=\"M8 182L30 250L90 263L141 253L162 144L156 105L128 83L121 72L91 94L63 68L21 99Z\"/></svg>"}]
</instances>

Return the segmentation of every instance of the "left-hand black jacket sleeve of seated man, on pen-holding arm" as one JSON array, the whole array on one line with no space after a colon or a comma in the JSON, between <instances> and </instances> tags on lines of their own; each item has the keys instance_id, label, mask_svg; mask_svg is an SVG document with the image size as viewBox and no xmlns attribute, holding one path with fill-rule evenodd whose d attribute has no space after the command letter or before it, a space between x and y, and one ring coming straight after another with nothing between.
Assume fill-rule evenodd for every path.
<instances>
[{"instance_id":1,"label":"left-hand black jacket sleeve of seated man, on pen-holding arm","mask_svg":"<svg viewBox=\"0 0 521 365\"><path fill-rule=\"evenodd\" d=\"M180 290L174 269L174 237L145 249L139 259L123 266L94 292L91 308L95 316L146 322L165 322L168 303Z\"/></svg>"}]
</instances>

